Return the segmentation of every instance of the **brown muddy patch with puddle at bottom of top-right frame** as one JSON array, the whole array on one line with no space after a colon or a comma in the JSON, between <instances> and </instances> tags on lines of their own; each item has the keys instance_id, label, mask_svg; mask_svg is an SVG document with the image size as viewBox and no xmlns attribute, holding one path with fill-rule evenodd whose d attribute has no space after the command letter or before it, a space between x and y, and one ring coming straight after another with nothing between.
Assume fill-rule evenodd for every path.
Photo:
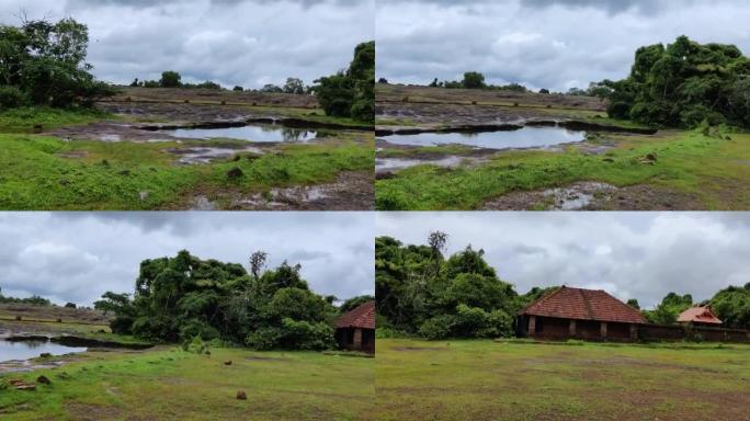
<instances>
[{"instance_id":1,"label":"brown muddy patch with puddle at bottom of top-right frame","mask_svg":"<svg viewBox=\"0 0 750 421\"><path fill-rule=\"evenodd\" d=\"M482 210L703 210L694 195L646 184L615 187L578 182L544 191L514 192L486 202Z\"/></svg>"}]
</instances>

